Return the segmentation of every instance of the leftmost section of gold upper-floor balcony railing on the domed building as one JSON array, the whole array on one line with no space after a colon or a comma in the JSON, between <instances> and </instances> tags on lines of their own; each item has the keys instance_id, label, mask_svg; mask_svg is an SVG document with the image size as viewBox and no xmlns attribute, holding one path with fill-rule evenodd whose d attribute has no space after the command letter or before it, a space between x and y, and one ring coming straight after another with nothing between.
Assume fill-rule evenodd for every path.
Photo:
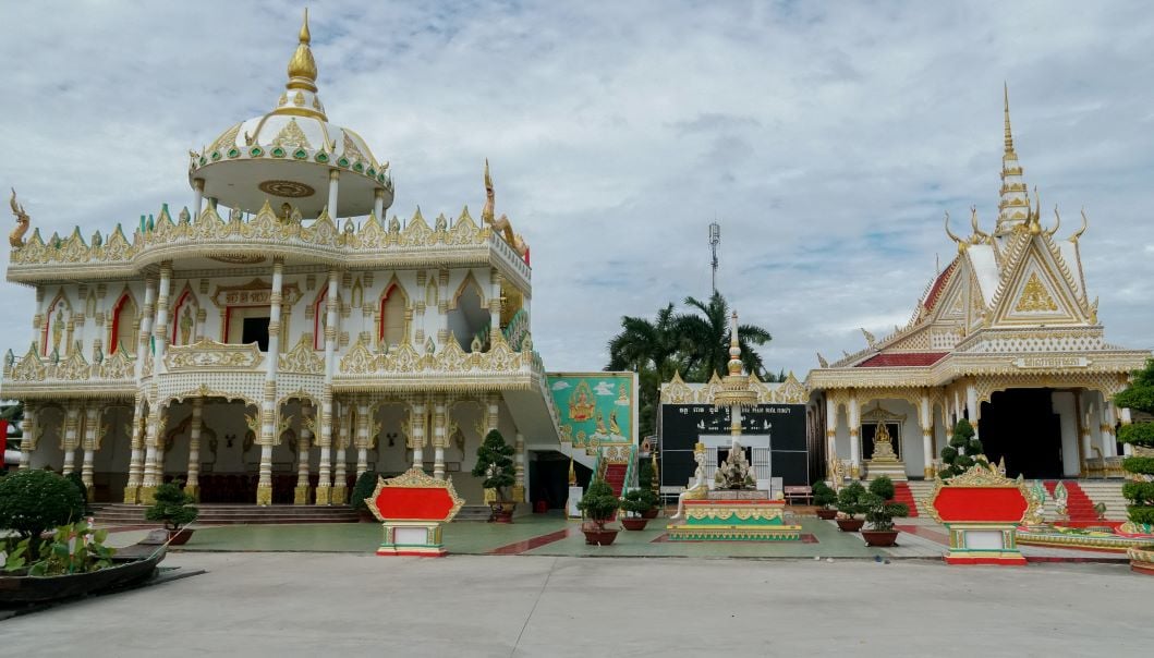
<instances>
[{"instance_id":1,"label":"leftmost section of gold upper-floor balcony railing on the domed building","mask_svg":"<svg viewBox=\"0 0 1154 658\"><path fill-rule=\"evenodd\" d=\"M65 358L42 357L35 345L23 357L5 359L0 396L18 399L60 397L132 397L135 359L123 351L89 362L80 350Z\"/></svg>"}]
</instances>

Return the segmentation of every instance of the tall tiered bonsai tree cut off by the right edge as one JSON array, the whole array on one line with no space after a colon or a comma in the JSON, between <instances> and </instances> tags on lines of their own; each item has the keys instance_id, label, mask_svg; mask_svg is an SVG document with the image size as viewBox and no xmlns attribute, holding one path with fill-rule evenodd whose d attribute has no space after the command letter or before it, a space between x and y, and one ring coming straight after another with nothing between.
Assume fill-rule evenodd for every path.
<instances>
[{"instance_id":1,"label":"tall tiered bonsai tree cut off by the right edge","mask_svg":"<svg viewBox=\"0 0 1154 658\"><path fill-rule=\"evenodd\" d=\"M1114 396L1114 404L1154 413L1154 359L1146 361L1130 386ZM1122 485L1122 495L1130 501L1126 514L1131 523L1154 525L1154 423L1123 425L1118 441L1134 448L1134 455L1122 461L1122 468L1136 476Z\"/></svg>"}]
</instances>

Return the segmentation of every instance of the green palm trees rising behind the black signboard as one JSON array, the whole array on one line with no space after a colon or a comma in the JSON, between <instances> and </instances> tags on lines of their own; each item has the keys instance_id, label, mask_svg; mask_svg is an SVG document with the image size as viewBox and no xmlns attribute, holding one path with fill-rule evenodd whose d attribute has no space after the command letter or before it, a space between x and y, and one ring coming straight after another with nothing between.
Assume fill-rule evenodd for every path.
<instances>
[{"instance_id":1,"label":"green palm trees rising behind the black signboard","mask_svg":"<svg viewBox=\"0 0 1154 658\"><path fill-rule=\"evenodd\" d=\"M687 345L687 372L702 381L713 373L724 375L729 362L729 304L720 292L714 292L707 302L687 297L685 306L691 313L679 314L673 322ZM737 345L747 373L765 377L762 357L752 346L771 339L770 332L756 324L737 326Z\"/></svg>"}]
</instances>

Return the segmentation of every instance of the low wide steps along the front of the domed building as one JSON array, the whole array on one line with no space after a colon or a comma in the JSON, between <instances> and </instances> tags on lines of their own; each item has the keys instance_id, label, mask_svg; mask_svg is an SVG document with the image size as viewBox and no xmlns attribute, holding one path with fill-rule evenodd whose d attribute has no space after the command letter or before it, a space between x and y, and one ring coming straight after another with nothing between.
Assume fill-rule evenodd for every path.
<instances>
[{"instance_id":1,"label":"low wide steps along the front of the domed building","mask_svg":"<svg viewBox=\"0 0 1154 658\"><path fill-rule=\"evenodd\" d=\"M201 503L196 525L239 525L273 523L357 523L360 517L347 504L255 504ZM155 525L144 519L145 506L108 503L92 506L92 516L102 526Z\"/></svg>"}]
</instances>

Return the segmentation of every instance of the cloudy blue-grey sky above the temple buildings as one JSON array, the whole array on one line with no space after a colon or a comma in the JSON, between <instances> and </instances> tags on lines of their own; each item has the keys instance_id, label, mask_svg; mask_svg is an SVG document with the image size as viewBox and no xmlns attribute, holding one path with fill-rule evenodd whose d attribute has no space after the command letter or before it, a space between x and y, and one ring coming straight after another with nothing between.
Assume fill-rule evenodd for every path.
<instances>
[{"instance_id":1,"label":"cloudy blue-grey sky above the temple buildings","mask_svg":"<svg viewBox=\"0 0 1154 658\"><path fill-rule=\"evenodd\" d=\"M187 152L272 109L302 2L0 1L0 189L42 235L189 205ZM310 2L320 96L403 218L497 212L532 249L534 346L600 369L622 315L718 287L799 377L905 324L976 205L1003 83L1043 224L1081 240L1107 339L1154 347L1146 2ZM968 229L967 229L968 232ZM0 249L7 269L8 252ZM0 283L0 350L30 289Z\"/></svg>"}]
</instances>

